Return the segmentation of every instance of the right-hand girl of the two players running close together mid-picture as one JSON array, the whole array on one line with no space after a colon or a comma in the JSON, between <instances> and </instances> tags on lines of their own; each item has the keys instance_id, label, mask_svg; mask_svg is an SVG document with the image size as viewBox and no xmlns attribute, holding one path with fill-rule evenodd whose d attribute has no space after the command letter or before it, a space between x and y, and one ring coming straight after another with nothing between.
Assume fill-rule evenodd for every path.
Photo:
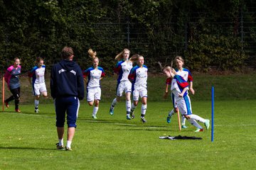
<instances>
[{"instance_id":1,"label":"right-hand girl of the two players running close together mid-picture","mask_svg":"<svg viewBox=\"0 0 256 170\"><path fill-rule=\"evenodd\" d=\"M134 118L134 109L139 103L139 97L142 98L142 114L141 120L146 123L146 101L147 101L147 89L146 80L148 76L148 69L144 65L144 57L142 55L133 55L130 59L131 61L137 61L137 65L132 68L129 73L128 79L132 82L132 96L133 103L131 108L130 117Z\"/></svg>"}]
</instances>

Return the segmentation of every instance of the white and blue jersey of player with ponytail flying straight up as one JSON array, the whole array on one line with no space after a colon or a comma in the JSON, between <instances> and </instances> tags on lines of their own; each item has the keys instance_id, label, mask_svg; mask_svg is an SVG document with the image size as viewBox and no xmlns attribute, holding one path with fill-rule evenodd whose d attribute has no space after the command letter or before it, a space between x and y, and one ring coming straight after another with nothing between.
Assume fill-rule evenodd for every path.
<instances>
[{"instance_id":1,"label":"white and blue jersey of player with ponytail flying straight up","mask_svg":"<svg viewBox=\"0 0 256 170\"><path fill-rule=\"evenodd\" d=\"M94 67L90 67L86 69L83 74L84 77L88 77L87 89L93 87L100 87L100 78L105 77L105 72L102 67L97 67L97 69L95 69Z\"/></svg>"}]
</instances>

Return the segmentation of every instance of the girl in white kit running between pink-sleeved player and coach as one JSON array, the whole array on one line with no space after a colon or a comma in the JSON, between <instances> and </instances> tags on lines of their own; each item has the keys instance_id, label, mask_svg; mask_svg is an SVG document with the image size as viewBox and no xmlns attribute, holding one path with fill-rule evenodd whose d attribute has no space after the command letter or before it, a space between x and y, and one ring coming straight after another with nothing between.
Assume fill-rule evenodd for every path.
<instances>
[{"instance_id":1,"label":"girl in white kit running between pink-sleeved player and coach","mask_svg":"<svg viewBox=\"0 0 256 170\"><path fill-rule=\"evenodd\" d=\"M35 113L38 113L40 94L44 98L47 98L47 89L45 82L46 65L43 64L43 58L38 57L36 59L36 66L28 72L28 81L32 85L33 95L35 96ZM31 81L32 78L32 81Z\"/></svg>"}]
</instances>

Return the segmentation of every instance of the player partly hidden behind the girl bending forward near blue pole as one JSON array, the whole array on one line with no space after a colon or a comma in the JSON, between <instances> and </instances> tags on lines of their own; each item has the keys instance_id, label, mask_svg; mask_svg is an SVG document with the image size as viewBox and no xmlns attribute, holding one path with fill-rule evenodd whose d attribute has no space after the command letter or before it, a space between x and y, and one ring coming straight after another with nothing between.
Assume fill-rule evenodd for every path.
<instances>
[{"instance_id":1,"label":"player partly hidden behind the girl bending forward near blue pole","mask_svg":"<svg viewBox=\"0 0 256 170\"><path fill-rule=\"evenodd\" d=\"M180 75L181 77L183 77L183 79L185 79L185 81L189 82L189 89L190 89L192 94L195 94L195 91L193 90L193 77L192 77L191 72L189 72L188 69L183 68L183 64L184 64L183 58L181 56L176 56L174 61L176 63L176 67L177 67L175 69L176 73L178 75ZM166 80L166 89L167 89L166 92L168 91L168 86L169 86L167 81L168 80ZM168 95L168 93L166 93L166 95L164 97L166 98L167 95ZM170 123L171 122L171 116L174 115L174 113L178 112L177 106L176 106L176 101L175 101L175 98L174 98L174 94L171 94L171 99L172 99L172 102L173 102L174 109L169 112L169 115L166 118L167 123ZM182 115L181 128L187 128L185 124L186 124L186 118Z\"/></svg>"}]
</instances>

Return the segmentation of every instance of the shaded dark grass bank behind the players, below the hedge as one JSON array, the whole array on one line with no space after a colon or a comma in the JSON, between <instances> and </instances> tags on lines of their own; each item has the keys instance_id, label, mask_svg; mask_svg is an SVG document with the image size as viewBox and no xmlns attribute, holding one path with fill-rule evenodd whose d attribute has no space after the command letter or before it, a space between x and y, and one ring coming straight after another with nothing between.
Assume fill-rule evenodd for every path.
<instances>
[{"instance_id":1,"label":"shaded dark grass bank behind the players, below the hedge","mask_svg":"<svg viewBox=\"0 0 256 170\"><path fill-rule=\"evenodd\" d=\"M206 75L193 74L193 87L195 95L191 95L192 101L210 101L211 86L215 87L216 101L233 101L233 100L254 100L256 91L256 72L252 74L230 74L230 75ZM150 75L148 78L148 100L149 101L168 101L163 98L165 91L166 77L163 75ZM46 77L46 86L50 96L50 79ZM102 101L109 103L113 100L117 77L107 75L101 81ZM0 86L2 83L0 81ZM0 95L1 91L0 91ZM10 91L6 87L5 96L9 97ZM27 77L21 77L21 104L33 102L31 85ZM41 100L41 103L53 103L53 100Z\"/></svg>"}]
</instances>

